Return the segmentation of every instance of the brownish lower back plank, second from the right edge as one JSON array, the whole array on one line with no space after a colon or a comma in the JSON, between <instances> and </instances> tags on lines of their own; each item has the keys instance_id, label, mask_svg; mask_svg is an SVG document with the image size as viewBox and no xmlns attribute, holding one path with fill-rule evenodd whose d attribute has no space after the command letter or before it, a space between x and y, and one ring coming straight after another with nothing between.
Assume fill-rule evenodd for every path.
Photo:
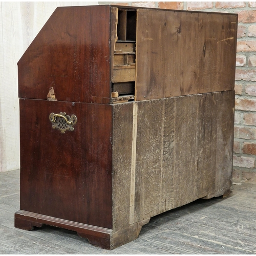
<instances>
[{"instance_id":1,"label":"brownish lower back plank, second from the right edge","mask_svg":"<svg viewBox=\"0 0 256 256\"><path fill-rule=\"evenodd\" d=\"M197 198L211 195L215 191L215 176L219 171L216 168L218 104L215 98L216 94L201 94L197 97L195 146L195 172L197 173L195 196ZM221 108L219 110L223 111Z\"/></svg>"}]
</instances>

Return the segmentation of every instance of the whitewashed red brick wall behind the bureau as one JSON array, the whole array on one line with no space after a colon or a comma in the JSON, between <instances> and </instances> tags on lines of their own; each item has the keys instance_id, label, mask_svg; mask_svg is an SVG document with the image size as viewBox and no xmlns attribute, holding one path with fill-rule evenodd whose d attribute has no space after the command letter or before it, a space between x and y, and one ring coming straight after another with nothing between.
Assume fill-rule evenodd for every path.
<instances>
[{"instance_id":1,"label":"whitewashed red brick wall behind the bureau","mask_svg":"<svg viewBox=\"0 0 256 256\"><path fill-rule=\"evenodd\" d=\"M122 2L120 4L238 13L233 180L256 182L256 2Z\"/></svg>"}]
</instances>

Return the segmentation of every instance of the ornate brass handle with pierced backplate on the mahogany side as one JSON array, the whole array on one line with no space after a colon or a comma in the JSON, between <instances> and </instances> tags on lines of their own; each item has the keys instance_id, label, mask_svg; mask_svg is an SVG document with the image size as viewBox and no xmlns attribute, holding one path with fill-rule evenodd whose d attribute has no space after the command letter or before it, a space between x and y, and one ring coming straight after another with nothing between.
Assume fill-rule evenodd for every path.
<instances>
[{"instance_id":1,"label":"ornate brass handle with pierced backplate on the mahogany side","mask_svg":"<svg viewBox=\"0 0 256 256\"><path fill-rule=\"evenodd\" d=\"M49 119L52 122L53 129L60 130L61 133L65 133L67 130L74 131L73 126L77 122L75 115L70 117L65 112L60 112L59 114L51 113Z\"/></svg>"}]
</instances>

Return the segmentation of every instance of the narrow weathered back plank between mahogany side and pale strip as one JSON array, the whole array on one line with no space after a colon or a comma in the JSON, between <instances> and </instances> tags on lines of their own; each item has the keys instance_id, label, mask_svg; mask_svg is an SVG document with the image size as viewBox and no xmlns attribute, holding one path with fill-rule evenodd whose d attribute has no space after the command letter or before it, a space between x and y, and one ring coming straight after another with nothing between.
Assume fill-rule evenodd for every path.
<instances>
[{"instance_id":1,"label":"narrow weathered back plank between mahogany side and pale strip","mask_svg":"<svg viewBox=\"0 0 256 256\"><path fill-rule=\"evenodd\" d=\"M113 232L130 226L133 102L113 108Z\"/></svg>"}]
</instances>

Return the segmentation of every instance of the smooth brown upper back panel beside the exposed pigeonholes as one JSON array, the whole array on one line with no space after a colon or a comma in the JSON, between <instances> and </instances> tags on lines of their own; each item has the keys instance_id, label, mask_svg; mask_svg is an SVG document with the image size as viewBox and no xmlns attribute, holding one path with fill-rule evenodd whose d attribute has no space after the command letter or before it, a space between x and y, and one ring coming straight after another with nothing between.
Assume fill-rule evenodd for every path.
<instances>
[{"instance_id":1,"label":"smooth brown upper back panel beside the exposed pigeonholes","mask_svg":"<svg viewBox=\"0 0 256 256\"><path fill-rule=\"evenodd\" d=\"M139 9L136 100L234 88L237 15Z\"/></svg>"}]
</instances>

